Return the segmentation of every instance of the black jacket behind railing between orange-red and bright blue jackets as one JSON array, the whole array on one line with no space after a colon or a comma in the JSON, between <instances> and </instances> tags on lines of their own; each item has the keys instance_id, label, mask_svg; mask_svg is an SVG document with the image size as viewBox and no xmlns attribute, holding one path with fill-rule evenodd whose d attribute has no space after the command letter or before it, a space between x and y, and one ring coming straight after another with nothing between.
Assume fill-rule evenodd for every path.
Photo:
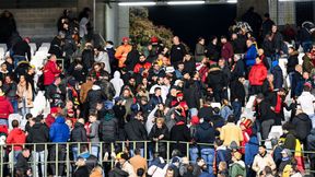
<instances>
[{"instance_id":1,"label":"black jacket behind railing between orange-red and bright blue jackets","mask_svg":"<svg viewBox=\"0 0 315 177\"><path fill-rule=\"evenodd\" d=\"M49 141L49 128L42 122L36 122L31 127L27 135L28 143L46 143ZM34 146L34 151L40 152L45 150L44 144Z\"/></svg>"}]
</instances>

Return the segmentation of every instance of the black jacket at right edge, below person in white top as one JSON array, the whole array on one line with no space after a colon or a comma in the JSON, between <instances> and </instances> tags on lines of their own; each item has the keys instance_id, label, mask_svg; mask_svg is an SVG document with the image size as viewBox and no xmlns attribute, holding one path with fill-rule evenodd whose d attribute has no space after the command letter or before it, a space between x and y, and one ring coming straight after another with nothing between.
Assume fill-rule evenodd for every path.
<instances>
[{"instance_id":1,"label":"black jacket at right edge, below person in white top","mask_svg":"<svg viewBox=\"0 0 315 177\"><path fill-rule=\"evenodd\" d=\"M296 138L301 141L305 141L312 130L312 121L304 113L299 114L292 120L292 125L295 126Z\"/></svg>"}]
</instances>

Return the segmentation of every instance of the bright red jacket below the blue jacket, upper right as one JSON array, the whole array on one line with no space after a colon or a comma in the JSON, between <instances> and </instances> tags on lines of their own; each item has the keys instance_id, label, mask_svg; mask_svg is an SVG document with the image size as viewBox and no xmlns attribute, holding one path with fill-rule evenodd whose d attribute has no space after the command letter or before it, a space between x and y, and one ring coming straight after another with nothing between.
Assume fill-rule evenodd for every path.
<instances>
[{"instance_id":1,"label":"bright red jacket below the blue jacket, upper right","mask_svg":"<svg viewBox=\"0 0 315 177\"><path fill-rule=\"evenodd\" d=\"M262 62L253 66L248 80L250 85L261 86L267 78L267 68Z\"/></svg>"}]
</instances>

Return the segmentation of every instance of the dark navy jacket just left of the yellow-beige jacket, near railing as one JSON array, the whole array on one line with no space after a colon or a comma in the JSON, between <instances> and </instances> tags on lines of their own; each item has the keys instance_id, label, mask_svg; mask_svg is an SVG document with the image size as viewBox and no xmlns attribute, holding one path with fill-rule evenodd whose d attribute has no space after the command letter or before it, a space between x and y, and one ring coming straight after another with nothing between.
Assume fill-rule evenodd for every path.
<instances>
[{"instance_id":1,"label":"dark navy jacket just left of the yellow-beige jacket, near railing","mask_svg":"<svg viewBox=\"0 0 315 177\"><path fill-rule=\"evenodd\" d=\"M214 137L215 130L214 128L207 121L197 126L197 131L195 133L195 141L199 143L213 143L215 140ZM200 148L209 149L212 146L202 146Z\"/></svg>"}]
</instances>

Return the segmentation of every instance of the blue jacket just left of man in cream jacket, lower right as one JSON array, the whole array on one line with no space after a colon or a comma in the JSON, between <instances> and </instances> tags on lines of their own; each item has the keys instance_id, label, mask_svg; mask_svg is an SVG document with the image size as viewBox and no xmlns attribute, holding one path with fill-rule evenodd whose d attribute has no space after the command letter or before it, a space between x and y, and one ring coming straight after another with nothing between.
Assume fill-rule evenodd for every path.
<instances>
[{"instance_id":1,"label":"blue jacket just left of man in cream jacket, lower right","mask_svg":"<svg viewBox=\"0 0 315 177\"><path fill-rule=\"evenodd\" d=\"M250 137L248 143L245 145L245 164L246 166L253 164L255 155L258 154L259 142L256 135Z\"/></svg>"}]
</instances>

